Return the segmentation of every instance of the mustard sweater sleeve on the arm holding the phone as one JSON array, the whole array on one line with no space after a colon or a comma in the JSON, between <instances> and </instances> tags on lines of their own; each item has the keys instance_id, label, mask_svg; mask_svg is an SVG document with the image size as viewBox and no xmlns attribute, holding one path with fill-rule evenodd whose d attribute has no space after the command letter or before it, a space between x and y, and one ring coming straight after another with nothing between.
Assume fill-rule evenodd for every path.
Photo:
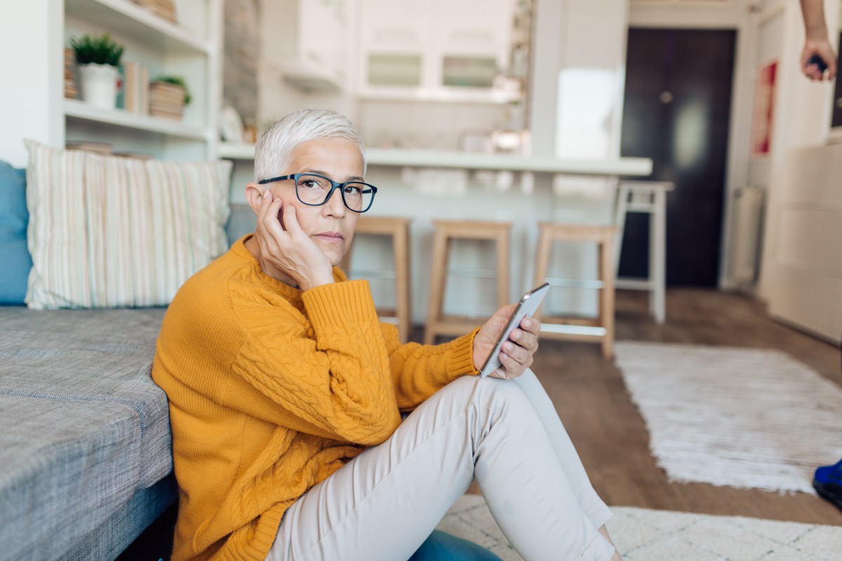
<instances>
[{"instance_id":1,"label":"mustard sweater sleeve on the arm holding the phone","mask_svg":"<svg viewBox=\"0 0 842 561\"><path fill-rule=\"evenodd\" d=\"M402 345L395 326L383 325L400 410L413 410L456 378L478 373L473 364L477 331L479 328L442 345Z\"/></svg>"}]
</instances>

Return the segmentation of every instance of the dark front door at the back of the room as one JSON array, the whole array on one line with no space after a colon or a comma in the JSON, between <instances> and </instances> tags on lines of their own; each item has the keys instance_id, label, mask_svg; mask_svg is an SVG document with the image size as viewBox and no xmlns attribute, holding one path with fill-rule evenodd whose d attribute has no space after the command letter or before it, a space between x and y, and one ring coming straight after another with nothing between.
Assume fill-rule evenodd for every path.
<instances>
[{"instance_id":1,"label":"dark front door at the back of the room","mask_svg":"<svg viewBox=\"0 0 842 561\"><path fill-rule=\"evenodd\" d=\"M716 287L736 32L629 29L622 156L653 159L667 197L668 285ZM621 277L646 277L647 215L629 214Z\"/></svg>"}]
</instances>

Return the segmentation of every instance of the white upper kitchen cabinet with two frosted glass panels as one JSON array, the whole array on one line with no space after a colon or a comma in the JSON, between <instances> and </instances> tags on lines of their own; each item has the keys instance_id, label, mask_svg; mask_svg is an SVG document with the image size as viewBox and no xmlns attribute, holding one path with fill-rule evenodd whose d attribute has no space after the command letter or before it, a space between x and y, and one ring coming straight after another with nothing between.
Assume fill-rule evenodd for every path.
<instances>
[{"instance_id":1,"label":"white upper kitchen cabinet with two frosted glass panels","mask_svg":"<svg viewBox=\"0 0 842 561\"><path fill-rule=\"evenodd\" d=\"M361 0L362 98L505 103L514 0Z\"/></svg>"}]
</instances>

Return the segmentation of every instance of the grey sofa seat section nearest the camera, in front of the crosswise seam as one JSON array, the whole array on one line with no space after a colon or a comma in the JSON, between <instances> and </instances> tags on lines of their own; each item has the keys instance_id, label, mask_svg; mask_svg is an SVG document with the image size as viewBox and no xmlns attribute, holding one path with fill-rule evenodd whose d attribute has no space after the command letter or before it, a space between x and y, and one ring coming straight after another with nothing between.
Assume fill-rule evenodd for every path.
<instances>
[{"instance_id":1,"label":"grey sofa seat section nearest the camera, in front of the crosswise seam","mask_svg":"<svg viewBox=\"0 0 842 561\"><path fill-rule=\"evenodd\" d=\"M137 488L140 424L127 405L0 395L0 543L53 559Z\"/></svg>"}]
</instances>

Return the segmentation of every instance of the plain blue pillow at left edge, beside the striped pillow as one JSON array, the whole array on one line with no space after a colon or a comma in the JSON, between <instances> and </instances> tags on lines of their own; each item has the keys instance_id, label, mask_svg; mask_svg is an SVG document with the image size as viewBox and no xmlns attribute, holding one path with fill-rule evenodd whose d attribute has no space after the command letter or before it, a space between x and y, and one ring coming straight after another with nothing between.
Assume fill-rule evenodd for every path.
<instances>
[{"instance_id":1,"label":"plain blue pillow at left edge, beside the striped pillow","mask_svg":"<svg viewBox=\"0 0 842 561\"><path fill-rule=\"evenodd\" d=\"M24 304L32 258L26 247L26 170L0 161L0 305Z\"/></svg>"}]
</instances>

